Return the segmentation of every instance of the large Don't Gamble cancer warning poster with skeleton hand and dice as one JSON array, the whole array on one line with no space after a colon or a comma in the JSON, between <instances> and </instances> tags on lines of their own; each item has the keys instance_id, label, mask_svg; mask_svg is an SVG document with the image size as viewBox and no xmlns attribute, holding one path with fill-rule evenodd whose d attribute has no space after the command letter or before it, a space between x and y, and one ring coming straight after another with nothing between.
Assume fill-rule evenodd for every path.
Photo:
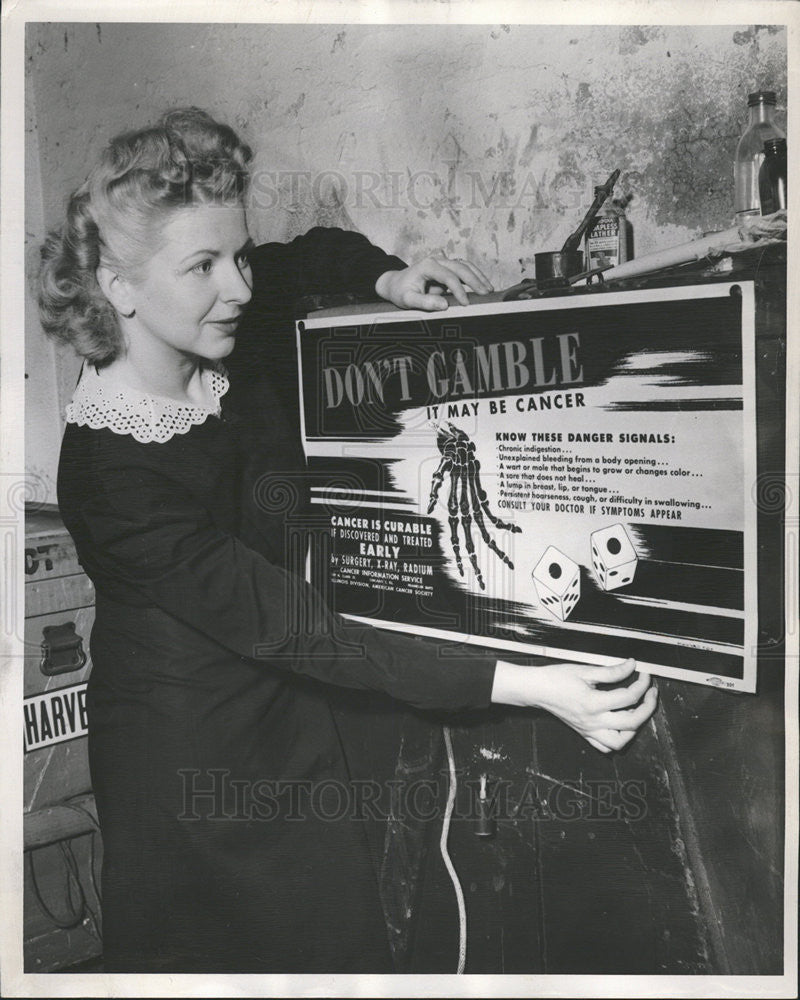
<instances>
[{"instance_id":1,"label":"large Don't Gamble cancer warning poster with skeleton hand and dice","mask_svg":"<svg viewBox=\"0 0 800 1000\"><path fill-rule=\"evenodd\" d=\"M298 350L338 612L755 690L752 284L312 316Z\"/></svg>"}]
</instances>

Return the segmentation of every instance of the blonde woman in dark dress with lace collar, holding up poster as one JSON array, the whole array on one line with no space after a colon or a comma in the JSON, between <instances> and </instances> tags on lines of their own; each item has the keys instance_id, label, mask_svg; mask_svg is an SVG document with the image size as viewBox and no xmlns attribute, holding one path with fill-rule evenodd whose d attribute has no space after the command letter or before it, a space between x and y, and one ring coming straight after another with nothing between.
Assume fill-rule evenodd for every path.
<instances>
[{"instance_id":1,"label":"blonde woman in dark dress with lace collar, holding up poster","mask_svg":"<svg viewBox=\"0 0 800 1000\"><path fill-rule=\"evenodd\" d=\"M327 685L423 708L543 707L602 750L632 738L655 694L646 675L607 689L632 661L454 663L411 638L342 634L287 571L285 512L258 509L242 483L253 456L264 472L296 468L295 435L261 399L259 441L221 365L252 294L249 159L208 115L171 112L111 142L43 251L43 326L85 358L58 488L97 592L105 967L391 971L363 830L315 798L348 781ZM361 238L328 263L330 241L271 245L265 281L317 291L346 280L349 254L396 305L440 307L430 280L460 298L461 281L488 287L469 265L404 269Z\"/></svg>"}]
</instances>

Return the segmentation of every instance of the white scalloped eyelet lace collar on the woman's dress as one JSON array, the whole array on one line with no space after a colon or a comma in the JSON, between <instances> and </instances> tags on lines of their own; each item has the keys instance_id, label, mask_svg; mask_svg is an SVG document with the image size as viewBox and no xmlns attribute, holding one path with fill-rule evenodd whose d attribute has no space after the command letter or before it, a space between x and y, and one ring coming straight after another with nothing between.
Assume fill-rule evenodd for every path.
<instances>
[{"instance_id":1,"label":"white scalloped eyelet lace collar on the woman's dress","mask_svg":"<svg viewBox=\"0 0 800 1000\"><path fill-rule=\"evenodd\" d=\"M221 364L204 368L200 377L215 400L214 406L193 406L131 389L118 379L101 376L94 365L86 363L66 409L67 423L86 424L95 430L107 427L115 434L131 434L143 444L169 441L207 417L220 414L220 397L228 391L225 368Z\"/></svg>"}]
</instances>

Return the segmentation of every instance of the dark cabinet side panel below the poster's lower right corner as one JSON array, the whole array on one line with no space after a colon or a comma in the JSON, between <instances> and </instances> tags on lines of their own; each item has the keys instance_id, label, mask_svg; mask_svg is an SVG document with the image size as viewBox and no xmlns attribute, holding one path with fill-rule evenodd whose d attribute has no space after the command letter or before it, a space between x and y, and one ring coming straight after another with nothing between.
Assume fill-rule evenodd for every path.
<instances>
[{"instance_id":1,"label":"dark cabinet side panel below the poster's lower right corner","mask_svg":"<svg viewBox=\"0 0 800 1000\"><path fill-rule=\"evenodd\" d=\"M760 670L757 697L662 683L676 810L723 974L783 966L783 671Z\"/></svg>"}]
</instances>

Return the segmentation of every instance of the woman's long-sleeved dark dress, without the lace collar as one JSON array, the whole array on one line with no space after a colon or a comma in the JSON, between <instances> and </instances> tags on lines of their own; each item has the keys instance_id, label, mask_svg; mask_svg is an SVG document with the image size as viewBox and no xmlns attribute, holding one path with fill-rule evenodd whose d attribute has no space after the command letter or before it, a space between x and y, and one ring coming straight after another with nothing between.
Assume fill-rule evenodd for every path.
<instances>
[{"instance_id":1,"label":"woman's long-sleeved dark dress, without the lace collar","mask_svg":"<svg viewBox=\"0 0 800 1000\"><path fill-rule=\"evenodd\" d=\"M360 239L340 246L362 252ZM267 260L303 289L294 244L259 253L257 282L269 290ZM328 685L480 707L493 661L343 630L292 572L297 431L278 392L253 406L260 376L243 356L232 367L245 388L232 377L220 418L164 443L76 424L64 436L61 512L97 591L88 707L105 966L391 971Z\"/></svg>"}]
</instances>

